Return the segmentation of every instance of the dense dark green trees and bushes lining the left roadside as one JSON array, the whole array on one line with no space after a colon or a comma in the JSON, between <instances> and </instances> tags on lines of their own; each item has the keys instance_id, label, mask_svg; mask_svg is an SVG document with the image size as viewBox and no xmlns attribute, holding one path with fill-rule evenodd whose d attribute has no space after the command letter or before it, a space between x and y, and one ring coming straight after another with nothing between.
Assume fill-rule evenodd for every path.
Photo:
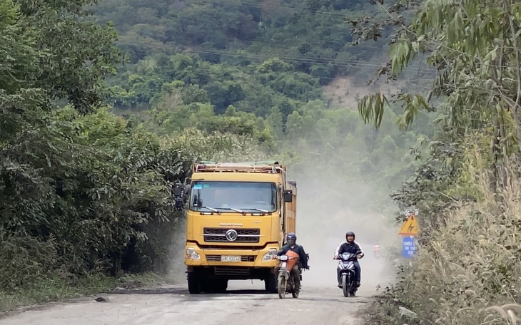
<instances>
[{"instance_id":1,"label":"dense dark green trees and bushes lining the left roadside","mask_svg":"<svg viewBox=\"0 0 521 325\"><path fill-rule=\"evenodd\" d=\"M247 138L161 140L96 106L118 56L111 31L85 20L86 3L0 6L0 292L166 270L179 217L173 183L193 160L254 154ZM71 105L54 104L68 96Z\"/></svg>"}]
</instances>

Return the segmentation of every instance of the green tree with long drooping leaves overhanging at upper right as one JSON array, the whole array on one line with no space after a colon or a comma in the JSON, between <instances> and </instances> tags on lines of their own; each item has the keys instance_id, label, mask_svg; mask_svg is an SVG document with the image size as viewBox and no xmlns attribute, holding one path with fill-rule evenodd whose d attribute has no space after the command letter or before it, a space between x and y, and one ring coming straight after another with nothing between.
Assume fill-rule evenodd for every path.
<instances>
[{"instance_id":1,"label":"green tree with long drooping leaves overhanging at upper right","mask_svg":"<svg viewBox=\"0 0 521 325\"><path fill-rule=\"evenodd\" d=\"M428 53L427 61L437 68L430 105L421 94L405 93L405 126L413 123L420 110L437 109L445 123L460 136L467 130L490 130L494 139L487 153L494 165L492 187L505 187L510 155L520 153L521 120L521 4L517 1L465 1L452 6L429 0L412 24L399 32L390 51L390 73L400 74L418 53ZM377 93L360 100L365 121L380 125L388 99ZM435 108L433 108L435 106Z\"/></svg>"}]
</instances>

